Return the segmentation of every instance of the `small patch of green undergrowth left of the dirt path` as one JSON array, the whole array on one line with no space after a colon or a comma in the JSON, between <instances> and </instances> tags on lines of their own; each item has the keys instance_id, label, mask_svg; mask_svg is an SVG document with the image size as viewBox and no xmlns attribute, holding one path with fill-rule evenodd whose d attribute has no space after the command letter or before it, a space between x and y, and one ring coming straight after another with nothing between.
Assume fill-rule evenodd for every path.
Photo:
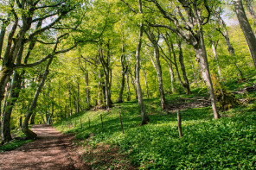
<instances>
[{"instance_id":1,"label":"small patch of green undergrowth left of the dirt path","mask_svg":"<svg viewBox=\"0 0 256 170\"><path fill-rule=\"evenodd\" d=\"M22 130L12 130L12 135L15 135L16 137L25 137L25 135L22 133ZM11 142L8 142L4 144L3 146L0 146L0 152L10 151L14 150L16 148L20 148L22 145L32 142L33 140L23 140L23 139L17 139L13 140Z\"/></svg>"}]
</instances>

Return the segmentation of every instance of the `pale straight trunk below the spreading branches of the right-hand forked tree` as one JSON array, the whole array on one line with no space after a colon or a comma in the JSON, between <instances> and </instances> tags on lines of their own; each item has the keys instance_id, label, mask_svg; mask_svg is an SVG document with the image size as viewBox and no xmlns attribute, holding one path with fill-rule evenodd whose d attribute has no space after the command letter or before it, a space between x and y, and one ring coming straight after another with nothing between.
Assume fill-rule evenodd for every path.
<instances>
[{"instance_id":1,"label":"pale straight trunk below the spreading branches of the right-hand forked tree","mask_svg":"<svg viewBox=\"0 0 256 170\"><path fill-rule=\"evenodd\" d=\"M207 59L206 49L205 49L204 40L203 40L202 29L200 30L199 35L200 35L199 36L200 41L196 46L194 46L195 55L196 55L197 62L199 63L199 66L201 68L202 79L204 79L204 81L208 85L208 92L210 95L210 100L211 100L212 108L214 111L214 119L218 119L220 118L220 115L217 110L216 98L214 95L214 86L212 84L212 80L211 80L210 72L208 68L208 59Z\"/></svg>"}]
</instances>

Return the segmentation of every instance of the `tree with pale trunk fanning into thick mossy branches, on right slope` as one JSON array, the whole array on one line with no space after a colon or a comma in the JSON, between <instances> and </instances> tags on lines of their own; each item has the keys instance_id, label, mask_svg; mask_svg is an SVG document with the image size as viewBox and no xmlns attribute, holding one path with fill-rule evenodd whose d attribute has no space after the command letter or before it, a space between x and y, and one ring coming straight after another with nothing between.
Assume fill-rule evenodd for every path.
<instances>
[{"instance_id":1,"label":"tree with pale trunk fanning into thick mossy branches, on right slope","mask_svg":"<svg viewBox=\"0 0 256 170\"><path fill-rule=\"evenodd\" d=\"M150 23L150 25L152 27L168 28L176 35L179 35L189 45L194 47L196 60L201 67L202 78L208 85L208 92L214 111L214 118L217 119L220 115L216 107L214 87L210 77L208 58L203 39L203 26L208 23L211 16L211 7L209 5L213 6L214 3L208 4L207 1L202 2L197 0L193 2L179 0L178 2L179 3L170 2L175 9L168 11L168 9L164 7L162 1L152 0L151 3L154 3L163 18L169 21L170 24L163 22Z\"/></svg>"}]
</instances>

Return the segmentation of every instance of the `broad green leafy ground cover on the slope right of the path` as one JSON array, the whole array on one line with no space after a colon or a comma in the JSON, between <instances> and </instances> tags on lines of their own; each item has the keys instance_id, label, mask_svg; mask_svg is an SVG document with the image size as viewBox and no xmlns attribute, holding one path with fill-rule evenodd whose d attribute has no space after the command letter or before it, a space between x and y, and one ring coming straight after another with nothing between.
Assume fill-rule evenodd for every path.
<instances>
[{"instance_id":1,"label":"broad green leafy ground cover on the slope right of the path","mask_svg":"<svg viewBox=\"0 0 256 170\"><path fill-rule=\"evenodd\" d=\"M234 88L237 86L234 85ZM229 90L232 88L229 87ZM255 98L253 92L246 95L247 98ZM190 97L193 95L172 95L166 100L170 103ZM65 133L75 132L78 139L85 140L81 141L82 144L90 145L92 149L99 145L118 146L119 152L128 155L131 164L139 169L256 167L255 100L246 106L221 112L222 117L218 120L213 119L211 107L182 110L182 138L178 135L175 113L165 114L161 111L159 98L144 102L150 116L150 123L144 126L139 126L141 117L137 101L115 104L110 111L80 113L54 126ZM119 112L122 114L125 134L120 128ZM101 127L100 115L103 117L104 129ZM105 168L111 168L111 165Z\"/></svg>"}]
</instances>

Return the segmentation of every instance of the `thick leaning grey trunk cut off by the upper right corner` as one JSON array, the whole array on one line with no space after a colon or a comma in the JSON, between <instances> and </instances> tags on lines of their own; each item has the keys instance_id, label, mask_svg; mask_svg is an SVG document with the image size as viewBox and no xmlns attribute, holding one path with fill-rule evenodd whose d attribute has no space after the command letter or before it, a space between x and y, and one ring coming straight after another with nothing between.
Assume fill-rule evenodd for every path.
<instances>
[{"instance_id":1,"label":"thick leaning grey trunk cut off by the upper right corner","mask_svg":"<svg viewBox=\"0 0 256 170\"><path fill-rule=\"evenodd\" d=\"M238 21L240 22L240 28L246 37L246 42L253 58L254 67L256 68L256 37L250 23L248 22L241 0L234 0L234 9Z\"/></svg>"}]
</instances>

